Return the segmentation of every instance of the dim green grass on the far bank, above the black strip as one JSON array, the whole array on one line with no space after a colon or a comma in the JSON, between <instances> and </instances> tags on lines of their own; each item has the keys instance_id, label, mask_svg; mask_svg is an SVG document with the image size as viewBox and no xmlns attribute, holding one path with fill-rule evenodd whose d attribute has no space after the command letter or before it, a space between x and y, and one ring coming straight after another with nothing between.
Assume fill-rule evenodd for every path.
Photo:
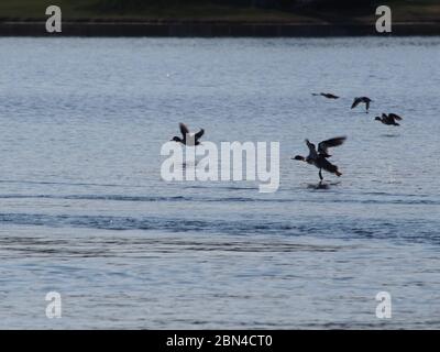
<instances>
[{"instance_id":1,"label":"dim green grass on the far bank, above the black strip","mask_svg":"<svg viewBox=\"0 0 440 352\"><path fill-rule=\"evenodd\" d=\"M261 9L252 7L220 6L210 1L162 0L120 2L120 0L1 0L0 19L44 20L45 9L57 4L63 10L64 20L108 20L108 21L250 21L250 22L297 22L322 23L355 21L367 23L375 19L374 7L354 9ZM124 6L121 7L121 3ZM146 3L144 6L139 6ZM158 3L162 3L158 4ZM165 3L165 6L164 6ZM440 21L438 0L392 0L388 4L395 22Z\"/></svg>"}]
</instances>

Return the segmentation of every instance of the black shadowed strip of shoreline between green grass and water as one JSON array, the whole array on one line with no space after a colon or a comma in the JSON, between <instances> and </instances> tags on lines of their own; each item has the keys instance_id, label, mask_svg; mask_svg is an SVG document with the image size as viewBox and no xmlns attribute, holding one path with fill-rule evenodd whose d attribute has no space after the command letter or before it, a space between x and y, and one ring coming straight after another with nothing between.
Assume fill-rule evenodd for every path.
<instances>
[{"instance_id":1,"label":"black shadowed strip of shoreline between green grass and water","mask_svg":"<svg viewBox=\"0 0 440 352\"><path fill-rule=\"evenodd\" d=\"M1 21L0 36L158 36L158 37L326 37L440 35L440 22L394 23L377 33L374 23L228 21L64 21L62 33L47 33L44 21Z\"/></svg>"}]
</instances>

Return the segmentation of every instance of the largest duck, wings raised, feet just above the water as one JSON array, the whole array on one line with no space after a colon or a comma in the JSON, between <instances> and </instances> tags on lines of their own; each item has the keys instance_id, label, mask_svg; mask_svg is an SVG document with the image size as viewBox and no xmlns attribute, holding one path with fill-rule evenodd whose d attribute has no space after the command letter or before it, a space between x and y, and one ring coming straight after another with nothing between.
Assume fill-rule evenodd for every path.
<instances>
[{"instance_id":1,"label":"largest duck, wings raised, feet just above the water","mask_svg":"<svg viewBox=\"0 0 440 352\"><path fill-rule=\"evenodd\" d=\"M323 180L322 169L324 169L328 173L334 174L339 177L342 174L338 170L337 165L333 165L328 161L328 158L331 157L331 155L329 155L328 153L328 150L329 147L341 145L343 142L345 142L345 140L346 136L338 136L334 139L322 141L321 143L318 144L318 151L316 150L314 143L310 143L309 140L306 140L306 144L309 148L309 155L307 157L304 157L301 155L296 155L295 157L293 157L293 160L306 162L310 165L315 165L316 167L318 167L319 179L321 183Z\"/></svg>"}]
</instances>

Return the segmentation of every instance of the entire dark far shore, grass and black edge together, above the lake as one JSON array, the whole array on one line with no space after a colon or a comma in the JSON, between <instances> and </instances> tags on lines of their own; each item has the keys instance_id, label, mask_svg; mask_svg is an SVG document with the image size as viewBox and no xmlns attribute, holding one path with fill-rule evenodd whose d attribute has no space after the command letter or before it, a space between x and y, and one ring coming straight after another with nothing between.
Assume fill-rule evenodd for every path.
<instances>
[{"instance_id":1,"label":"entire dark far shore, grass and black edge together, above the lake","mask_svg":"<svg viewBox=\"0 0 440 352\"><path fill-rule=\"evenodd\" d=\"M45 9L63 32L45 31ZM1 0L0 35L337 36L384 35L375 9L392 9L392 35L440 35L438 0Z\"/></svg>"}]
</instances>

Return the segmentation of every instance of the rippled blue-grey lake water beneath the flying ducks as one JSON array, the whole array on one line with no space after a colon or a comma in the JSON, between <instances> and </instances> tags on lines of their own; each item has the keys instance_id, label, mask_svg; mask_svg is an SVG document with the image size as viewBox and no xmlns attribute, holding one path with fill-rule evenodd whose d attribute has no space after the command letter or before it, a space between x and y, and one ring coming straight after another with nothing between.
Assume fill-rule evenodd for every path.
<instances>
[{"instance_id":1,"label":"rippled blue-grey lake water beneath the flying ducks","mask_svg":"<svg viewBox=\"0 0 440 352\"><path fill-rule=\"evenodd\" d=\"M439 329L439 58L440 37L0 38L0 328ZM278 191L163 182L180 121L279 142ZM290 157L341 134L316 189Z\"/></svg>"}]
</instances>

